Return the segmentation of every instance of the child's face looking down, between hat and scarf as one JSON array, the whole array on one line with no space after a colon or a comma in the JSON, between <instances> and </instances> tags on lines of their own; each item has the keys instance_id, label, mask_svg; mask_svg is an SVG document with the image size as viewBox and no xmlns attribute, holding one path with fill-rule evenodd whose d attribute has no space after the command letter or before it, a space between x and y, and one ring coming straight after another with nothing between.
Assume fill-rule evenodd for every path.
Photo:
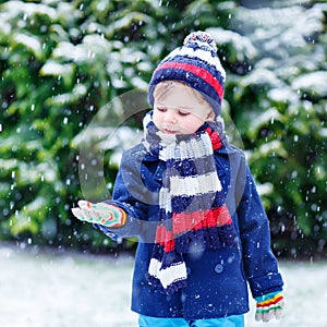
<instances>
[{"instance_id":1,"label":"child's face looking down, between hat and scarf","mask_svg":"<svg viewBox=\"0 0 327 327\"><path fill-rule=\"evenodd\" d=\"M173 85L172 85L173 84ZM207 101L191 90L189 86L170 82L167 92L155 92L154 123L166 134L192 134L205 121L214 119Z\"/></svg>"}]
</instances>

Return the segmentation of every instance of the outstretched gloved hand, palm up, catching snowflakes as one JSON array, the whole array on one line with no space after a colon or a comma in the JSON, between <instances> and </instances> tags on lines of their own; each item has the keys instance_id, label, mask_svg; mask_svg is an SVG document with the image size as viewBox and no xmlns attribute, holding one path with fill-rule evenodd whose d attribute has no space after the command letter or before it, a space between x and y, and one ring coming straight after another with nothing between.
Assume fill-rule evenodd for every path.
<instances>
[{"instance_id":1,"label":"outstretched gloved hand, palm up, catching snowflakes","mask_svg":"<svg viewBox=\"0 0 327 327\"><path fill-rule=\"evenodd\" d=\"M121 227L126 222L126 213L118 206L96 203L88 201L78 201L78 207L72 208L73 215L90 223L99 223L105 227Z\"/></svg>"}]
</instances>

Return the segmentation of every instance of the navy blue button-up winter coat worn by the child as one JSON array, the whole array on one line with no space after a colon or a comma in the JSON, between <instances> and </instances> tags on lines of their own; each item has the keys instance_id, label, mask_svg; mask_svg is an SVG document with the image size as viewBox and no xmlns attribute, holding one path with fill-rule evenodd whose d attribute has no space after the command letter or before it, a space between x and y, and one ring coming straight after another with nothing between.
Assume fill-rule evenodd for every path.
<instances>
[{"instance_id":1,"label":"navy blue button-up winter coat worn by the child","mask_svg":"<svg viewBox=\"0 0 327 327\"><path fill-rule=\"evenodd\" d=\"M270 250L268 219L243 153L227 145L215 152L215 160L240 245L215 251L195 249L184 254L187 286L167 295L153 290L146 280L166 165L142 144L123 154L109 203L128 213L128 222L110 231L100 229L112 238L138 238L132 311L153 317L219 318L249 311L247 282L254 298L282 290Z\"/></svg>"}]
</instances>

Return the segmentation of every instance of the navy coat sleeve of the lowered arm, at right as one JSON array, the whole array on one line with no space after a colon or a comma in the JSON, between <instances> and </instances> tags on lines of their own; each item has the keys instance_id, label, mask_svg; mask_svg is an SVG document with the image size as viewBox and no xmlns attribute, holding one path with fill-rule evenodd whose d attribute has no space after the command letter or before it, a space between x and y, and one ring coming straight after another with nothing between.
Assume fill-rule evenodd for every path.
<instances>
[{"instance_id":1,"label":"navy coat sleeve of the lowered arm, at right","mask_svg":"<svg viewBox=\"0 0 327 327\"><path fill-rule=\"evenodd\" d=\"M243 193L238 217L243 251L244 270L253 298L282 290L278 263L270 249L269 221L244 158L238 185Z\"/></svg>"}]
</instances>

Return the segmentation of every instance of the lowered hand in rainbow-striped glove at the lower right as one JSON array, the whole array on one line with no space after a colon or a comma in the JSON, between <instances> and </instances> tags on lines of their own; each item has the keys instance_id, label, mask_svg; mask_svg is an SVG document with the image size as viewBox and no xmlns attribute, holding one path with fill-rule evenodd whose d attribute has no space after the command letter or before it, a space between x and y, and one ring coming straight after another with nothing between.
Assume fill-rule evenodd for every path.
<instances>
[{"instance_id":1,"label":"lowered hand in rainbow-striped glove at the lower right","mask_svg":"<svg viewBox=\"0 0 327 327\"><path fill-rule=\"evenodd\" d=\"M255 298L255 319L257 322L269 322L274 318L280 319L284 306L283 296L280 292L272 292Z\"/></svg>"}]
</instances>

